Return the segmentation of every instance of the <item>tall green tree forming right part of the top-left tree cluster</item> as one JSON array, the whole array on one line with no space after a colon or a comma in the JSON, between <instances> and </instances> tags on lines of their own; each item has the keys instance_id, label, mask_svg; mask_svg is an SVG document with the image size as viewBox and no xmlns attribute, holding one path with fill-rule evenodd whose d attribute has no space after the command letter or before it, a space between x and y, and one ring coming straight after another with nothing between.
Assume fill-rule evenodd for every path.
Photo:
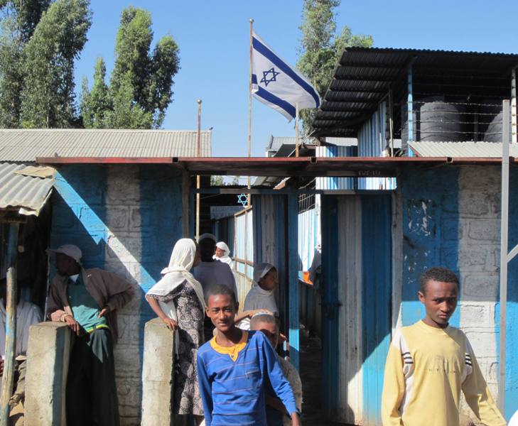
<instances>
[{"instance_id":1,"label":"tall green tree forming right part of the top-left tree cluster","mask_svg":"<svg viewBox=\"0 0 518 426\"><path fill-rule=\"evenodd\" d=\"M23 48L23 127L70 127L75 119L74 61L92 23L88 0L57 0Z\"/></svg>"}]
</instances>

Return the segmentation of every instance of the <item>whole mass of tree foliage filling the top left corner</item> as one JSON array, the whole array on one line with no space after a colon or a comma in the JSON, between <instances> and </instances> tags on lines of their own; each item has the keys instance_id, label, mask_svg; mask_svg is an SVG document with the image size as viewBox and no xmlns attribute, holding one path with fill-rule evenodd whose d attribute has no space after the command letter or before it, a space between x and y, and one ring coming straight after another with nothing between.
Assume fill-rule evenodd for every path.
<instances>
[{"instance_id":1,"label":"whole mass of tree foliage filling the top left corner","mask_svg":"<svg viewBox=\"0 0 518 426\"><path fill-rule=\"evenodd\" d=\"M89 4L0 2L0 126L75 125L73 69L91 25Z\"/></svg>"}]
</instances>

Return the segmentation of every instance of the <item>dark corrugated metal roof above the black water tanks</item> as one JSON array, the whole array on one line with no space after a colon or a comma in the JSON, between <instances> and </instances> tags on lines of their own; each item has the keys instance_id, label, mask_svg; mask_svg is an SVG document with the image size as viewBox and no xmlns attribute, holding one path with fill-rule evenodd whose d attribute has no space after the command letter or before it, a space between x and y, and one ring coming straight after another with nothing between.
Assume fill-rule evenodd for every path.
<instances>
[{"instance_id":1,"label":"dark corrugated metal roof above the black water tanks","mask_svg":"<svg viewBox=\"0 0 518 426\"><path fill-rule=\"evenodd\" d=\"M392 88L394 102L406 93L406 69L412 65L414 92L467 99L510 96L510 72L518 65L511 53L452 50L347 48L323 97L313 131L316 136L356 136L378 102ZM414 101L416 98L414 97ZM398 114L398 111L394 111Z\"/></svg>"}]
</instances>

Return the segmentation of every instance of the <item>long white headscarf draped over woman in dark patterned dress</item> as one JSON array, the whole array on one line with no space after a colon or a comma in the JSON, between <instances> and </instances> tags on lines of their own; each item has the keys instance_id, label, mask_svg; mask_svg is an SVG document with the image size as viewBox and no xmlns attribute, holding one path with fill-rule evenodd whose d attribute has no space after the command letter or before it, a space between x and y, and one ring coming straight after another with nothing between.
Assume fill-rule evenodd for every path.
<instances>
[{"instance_id":1,"label":"long white headscarf draped over woman in dark patterned dress","mask_svg":"<svg viewBox=\"0 0 518 426\"><path fill-rule=\"evenodd\" d=\"M200 305L205 311L203 288L193 277L193 274L190 273L190 269L193 268L195 254L196 244L192 239L183 238L176 241L173 253L171 253L169 266L167 268L163 268L161 271L161 274L163 275L162 279L153 285L146 295L166 296L177 288L178 285L181 285L185 280L187 280L188 283L193 286L196 295L198 296L198 300L200 300ZM176 307L172 300L168 303L159 301L159 304L163 312L168 317L175 321L178 320L178 317L176 316Z\"/></svg>"}]
</instances>

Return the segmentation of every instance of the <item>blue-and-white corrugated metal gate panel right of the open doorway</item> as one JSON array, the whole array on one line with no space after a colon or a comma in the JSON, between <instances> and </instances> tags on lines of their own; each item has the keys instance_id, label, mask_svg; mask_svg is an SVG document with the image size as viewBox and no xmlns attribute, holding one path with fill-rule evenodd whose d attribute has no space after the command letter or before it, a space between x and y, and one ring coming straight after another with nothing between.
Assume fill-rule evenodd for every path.
<instances>
[{"instance_id":1,"label":"blue-and-white corrugated metal gate panel right of the open doorway","mask_svg":"<svg viewBox=\"0 0 518 426\"><path fill-rule=\"evenodd\" d=\"M323 400L333 421L381 424L391 203L387 195L323 197Z\"/></svg>"}]
</instances>

